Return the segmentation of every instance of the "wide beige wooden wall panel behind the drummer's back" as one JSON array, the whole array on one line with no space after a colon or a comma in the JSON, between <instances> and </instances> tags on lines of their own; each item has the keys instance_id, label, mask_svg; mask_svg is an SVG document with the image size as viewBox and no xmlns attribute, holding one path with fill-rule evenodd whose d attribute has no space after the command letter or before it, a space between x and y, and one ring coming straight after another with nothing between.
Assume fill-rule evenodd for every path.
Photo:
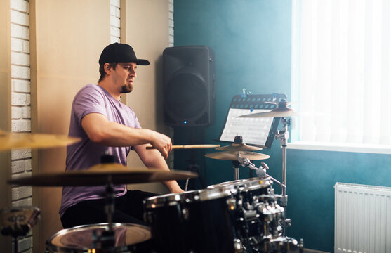
<instances>
[{"instance_id":1,"label":"wide beige wooden wall panel behind the drummer's back","mask_svg":"<svg viewBox=\"0 0 391 253\"><path fill-rule=\"evenodd\" d=\"M32 131L67 134L72 100L85 84L96 84L98 58L110 43L110 1L30 1ZM65 171L65 148L33 153L33 174ZM62 229L62 188L33 189L42 219L34 229L34 252Z\"/></svg>"}]
</instances>

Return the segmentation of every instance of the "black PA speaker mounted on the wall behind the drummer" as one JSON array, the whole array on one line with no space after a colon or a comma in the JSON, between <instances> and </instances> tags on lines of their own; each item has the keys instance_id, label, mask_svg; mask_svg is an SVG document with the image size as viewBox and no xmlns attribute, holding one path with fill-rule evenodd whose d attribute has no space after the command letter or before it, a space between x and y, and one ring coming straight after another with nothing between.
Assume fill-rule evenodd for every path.
<instances>
[{"instance_id":1,"label":"black PA speaker mounted on the wall behind the drummer","mask_svg":"<svg viewBox=\"0 0 391 253\"><path fill-rule=\"evenodd\" d=\"M164 122L209 126L214 122L214 52L208 46L174 46L163 51Z\"/></svg>"}]
</instances>

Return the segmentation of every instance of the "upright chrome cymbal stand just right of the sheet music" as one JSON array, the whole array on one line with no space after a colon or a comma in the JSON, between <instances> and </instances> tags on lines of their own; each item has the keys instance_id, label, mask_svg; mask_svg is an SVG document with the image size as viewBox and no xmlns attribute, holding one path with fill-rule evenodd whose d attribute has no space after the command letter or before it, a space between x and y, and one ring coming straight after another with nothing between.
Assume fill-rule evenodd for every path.
<instances>
[{"instance_id":1,"label":"upright chrome cymbal stand just right of the sheet music","mask_svg":"<svg viewBox=\"0 0 391 253\"><path fill-rule=\"evenodd\" d=\"M277 130L276 140L279 139L282 148L282 184L285 186L282 188L281 193L281 207L284 207L284 212L281 218L281 226L283 228L282 236L286 236L286 228L291 226L291 219L286 218L286 206L288 205L288 195L286 195L286 145L289 139L288 126L291 124L291 119L285 119L281 117L281 122L283 124L282 130Z\"/></svg>"}]
</instances>

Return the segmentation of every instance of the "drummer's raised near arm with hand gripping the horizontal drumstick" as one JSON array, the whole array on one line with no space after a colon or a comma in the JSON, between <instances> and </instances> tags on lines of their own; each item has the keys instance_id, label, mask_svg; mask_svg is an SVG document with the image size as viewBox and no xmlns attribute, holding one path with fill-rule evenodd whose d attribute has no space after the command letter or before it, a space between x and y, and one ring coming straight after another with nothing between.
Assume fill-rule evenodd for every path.
<instances>
[{"instance_id":1,"label":"drummer's raised near arm with hand gripping the horizontal drumstick","mask_svg":"<svg viewBox=\"0 0 391 253\"><path fill-rule=\"evenodd\" d=\"M90 113L84 116L81 119L81 126L91 141L101 145L124 147L150 143L165 158L172 150L171 138L168 136L150 129L133 129L123 124L110 122L105 115L100 113ZM158 154L161 157L160 153Z\"/></svg>"}]
</instances>

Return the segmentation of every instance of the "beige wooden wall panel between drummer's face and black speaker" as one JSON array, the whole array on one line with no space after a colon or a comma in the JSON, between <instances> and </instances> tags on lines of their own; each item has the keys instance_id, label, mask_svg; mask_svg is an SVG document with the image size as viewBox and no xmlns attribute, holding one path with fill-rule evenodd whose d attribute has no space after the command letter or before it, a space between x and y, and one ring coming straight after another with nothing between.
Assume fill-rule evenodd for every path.
<instances>
[{"instance_id":1,"label":"beige wooden wall panel between drummer's face and black speaker","mask_svg":"<svg viewBox=\"0 0 391 253\"><path fill-rule=\"evenodd\" d=\"M136 56L150 61L139 66L138 77L126 103L133 108L143 128L168 134L163 115L162 53L168 47L168 0L126 1L126 37L124 43L133 46ZM121 39L121 41L123 41ZM128 167L143 163L135 152L128 157ZM167 193L161 183L134 185L131 188Z\"/></svg>"}]
</instances>

